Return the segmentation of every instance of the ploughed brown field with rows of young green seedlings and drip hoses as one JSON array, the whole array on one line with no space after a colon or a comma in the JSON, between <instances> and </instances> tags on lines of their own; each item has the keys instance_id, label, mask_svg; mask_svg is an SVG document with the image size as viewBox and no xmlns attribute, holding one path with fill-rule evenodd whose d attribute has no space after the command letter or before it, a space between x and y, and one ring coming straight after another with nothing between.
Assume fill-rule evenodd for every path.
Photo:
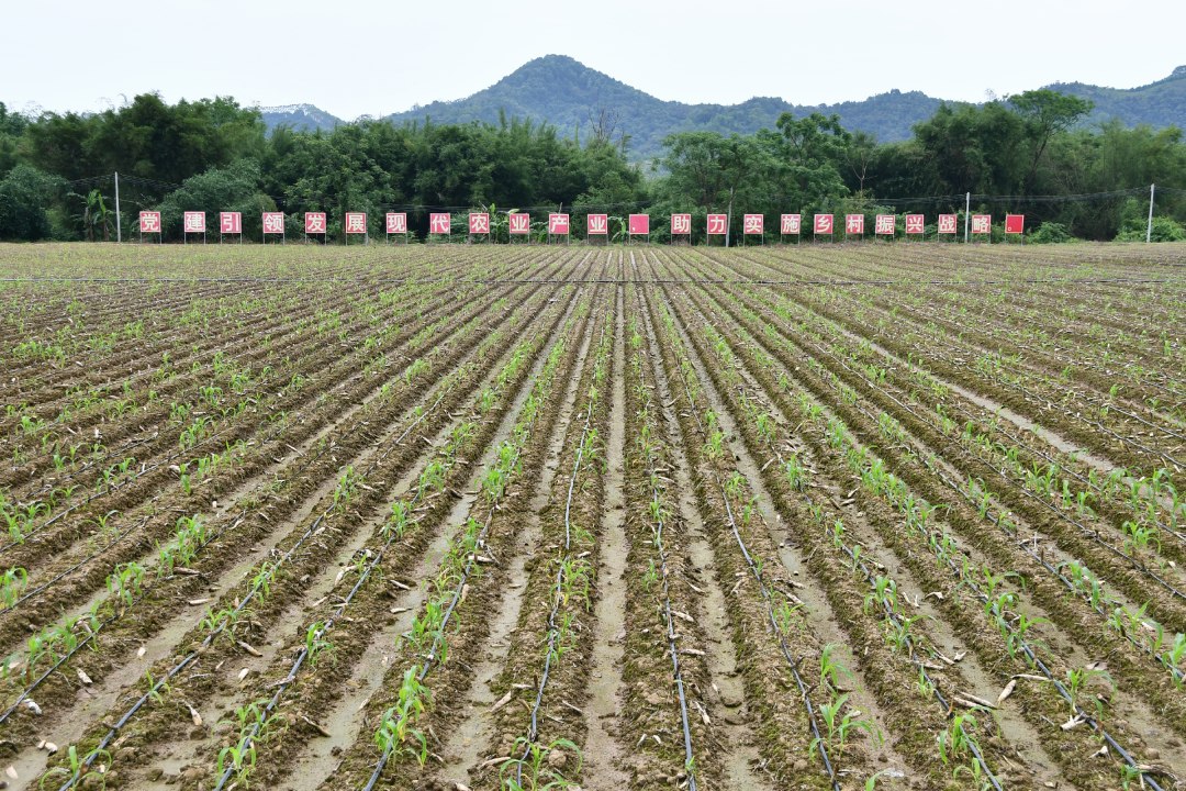
<instances>
[{"instance_id":1,"label":"ploughed brown field with rows of young green seedlings and drip hoses","mask_svg":"<svg viewBox=\"0 0 1186 791\"><path fill-rule=\"evenodd\" d=\"M0 247L0 780L1186 789L1184 260Z\"/></svg>"}]
</instances>

